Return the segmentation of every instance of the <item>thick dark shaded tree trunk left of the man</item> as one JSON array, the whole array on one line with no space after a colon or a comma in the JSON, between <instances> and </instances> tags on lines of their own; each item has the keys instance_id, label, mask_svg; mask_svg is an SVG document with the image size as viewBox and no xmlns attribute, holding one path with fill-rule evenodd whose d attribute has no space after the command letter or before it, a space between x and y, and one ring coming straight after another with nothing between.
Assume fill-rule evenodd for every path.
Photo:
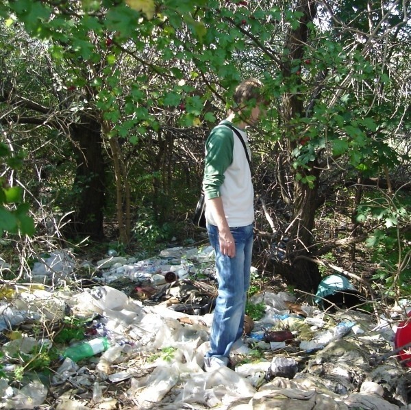
<instances>
[{"instance_id":1,"label":"thick dark shaded tree trunk left of the man","mask_svg":"<svg viewBox=\"0 0 411 410\"><path fill-rule=\"evenodd\" d=\"M77 174L73 183L76 195L73 223L69 225L71 235L88 235L93 240L102 240L103 207L105 205L104 173L101 124L95 118L82 117L70 127L75 142Z\"/></svg>"}]
</instances>

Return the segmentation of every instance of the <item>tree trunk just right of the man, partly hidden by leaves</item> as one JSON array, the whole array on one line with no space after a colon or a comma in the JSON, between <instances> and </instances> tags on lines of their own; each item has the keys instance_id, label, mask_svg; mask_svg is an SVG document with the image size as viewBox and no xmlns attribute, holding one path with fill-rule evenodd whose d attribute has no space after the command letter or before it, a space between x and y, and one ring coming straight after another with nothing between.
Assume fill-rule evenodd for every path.
<instances>
[{"instance_id":1,"label":"tree trunk just right of the man, partly hidden by leaves","mask_svg":"<svg viewBox=\"0 0 411 410\"><path fill-rule=\"evenodd\" d=\"M304 44L308 39L307 24L312 21L316 14L316 2L311 0L299 0L296 10L303 12L300 18L299 27L290 29L284 49L288 50L288 54L284 59L283 74L284 77L295 76L297 84L301 71L292 73L292 67L295 64L301 64L304 53ZM284 118L284 129L287 130L284 135L284 140L287 142L287 151L291 153L299 143L302 137L297 134L297 131L292 127L292 121L295 118L303 118L305 116L303 99L297 94L284 94L282 99L282 116ZM287 161L288 162L288 161ZM288 168L292 160L288 162ZM312 187L308 183L297 178L298 175L307 177L308 175L315 177ZM284 262L279 262L275 267L275 271L281 274L288 283L298 287L306 292L314 292L321 281L321 274L318 266L307 259L295 259L299 255L308 253L308 246L312 242L312 229L314 227L314 216L316 211L317 192L319 185L319 168L315 164L310 164L310 170L297 169L294 175L294 191L292 193L292 218L291 224L288 227L287 243L288 258ZM288 261L288 264L286 264Z\"/></svg>"}]
</instances>

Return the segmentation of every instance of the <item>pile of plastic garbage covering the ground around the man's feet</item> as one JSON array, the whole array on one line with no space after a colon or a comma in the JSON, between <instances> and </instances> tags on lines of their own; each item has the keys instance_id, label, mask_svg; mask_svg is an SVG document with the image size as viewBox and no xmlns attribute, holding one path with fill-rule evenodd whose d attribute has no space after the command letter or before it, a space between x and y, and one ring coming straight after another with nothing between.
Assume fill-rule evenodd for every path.
<instances>
[{"instance_id":1,"label":"pile of plastic garbage covering the ground around the man's feet","mask_svg":"<svg viewBox=\"0 0 411 410\"><path fill-rule=\"evenodd\" d=\"M61 286L81 281L68 252L39 261L32 283L0 290L0 408L411 409L410 356L396 344L408 329L408 302L385 316L330 313L324 301L338 292L359 296L340 277L321 283L312 305L288 292L253 295L264 317L247 318L234 370L204 372L213 258L210 247L169 248L142 261L110 251L97 264L82 262L92 277L83 289ZM62 331L52 325L67 318L87 323L85 339L55 342ZM60 354L49 377L27 372L14 381L23 359L53 347Z\"/></svg>"}]
</instances>

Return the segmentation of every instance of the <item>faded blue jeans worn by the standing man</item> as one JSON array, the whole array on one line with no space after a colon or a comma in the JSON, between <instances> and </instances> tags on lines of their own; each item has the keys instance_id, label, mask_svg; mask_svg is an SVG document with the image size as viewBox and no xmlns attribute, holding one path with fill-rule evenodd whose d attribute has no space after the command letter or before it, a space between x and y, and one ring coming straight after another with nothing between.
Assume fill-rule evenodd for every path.
<instances>
[{"instance_id":1,"label":"faded blue jeans worn by the standing man","mask_svg":"<svg viewBox=\"0 0 411 410\"><path fill-rule=\"evenodd\" d=\"M227 364L229 351L240 339L244 325L245 303L250 285L253 224L230 228L236 243L235 257L221 254L217 227L207 225L207 230L216 255L219 295L216 298L210 334L211 349L206 357L216 357Z\"/></svg>"}]
</instances>

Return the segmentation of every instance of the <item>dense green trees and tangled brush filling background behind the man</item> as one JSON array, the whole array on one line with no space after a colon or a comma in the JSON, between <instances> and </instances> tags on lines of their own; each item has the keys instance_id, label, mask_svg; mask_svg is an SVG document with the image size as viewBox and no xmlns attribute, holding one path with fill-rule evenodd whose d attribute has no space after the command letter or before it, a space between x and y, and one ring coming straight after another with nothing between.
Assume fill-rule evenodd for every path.
<instances>
[{"instance_id":1,"label":"dense green trees and tangled brush filling background behind the man","mask_svg":"<svg viewBox=\"0 0 411 410\"><path fill-rule=\"evenodd\" d=\"M406 283L410 9L363 0L5 1L0 211L10 220L5 212L27 210L10 210L23 202L12 196L17 184L36 209L60 214L71 238L101 239L114 216L126 245L155 224L184 221L210 127L238 82L258 77L271 101L250 130L264 266L313 290L315 257L337 246L354 257L366 240L377 255L395 251L384 277ZM16 178L10 158L23 153ZM327 237L317 234L324 224ZM32 233L18 219L1 227ZM276 259L279 243L286 257Z\"/></svg>"}]
</instances>

